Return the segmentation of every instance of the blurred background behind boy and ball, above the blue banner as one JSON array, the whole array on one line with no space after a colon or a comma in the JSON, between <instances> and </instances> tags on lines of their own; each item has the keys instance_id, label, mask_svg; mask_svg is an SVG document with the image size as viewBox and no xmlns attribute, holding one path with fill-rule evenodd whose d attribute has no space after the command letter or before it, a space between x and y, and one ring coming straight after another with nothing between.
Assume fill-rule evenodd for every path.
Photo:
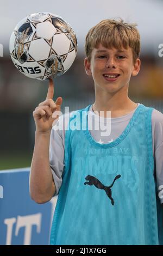
<instances>
[{"instance_id":1,"label":"blurred background behind boy and ball, above the blue banner","mask_svg":"<svg viewBox=\"0 0 163 256\"><path fill-rule=\"evenodd\" d=\"M163 113L162 0L63 0L48 2L5 0L0 8L0 170L30 166L34 148L33 111L45 100L48 82L22 75L11 62L9 39L16 24L24 17L49 11L70 23L77 35L78 54L71 68L56 78L54 99L62 96L70 111L86 107L95 100L94 85L84 70L84 41L87 31L103 19L121 17L137 23L141 35L141 70L131 78L130 99L152 106ZM163 47L163 45L162 45ZM163 51L162 51L163 53Z\"/></svg>"}]
</instances>

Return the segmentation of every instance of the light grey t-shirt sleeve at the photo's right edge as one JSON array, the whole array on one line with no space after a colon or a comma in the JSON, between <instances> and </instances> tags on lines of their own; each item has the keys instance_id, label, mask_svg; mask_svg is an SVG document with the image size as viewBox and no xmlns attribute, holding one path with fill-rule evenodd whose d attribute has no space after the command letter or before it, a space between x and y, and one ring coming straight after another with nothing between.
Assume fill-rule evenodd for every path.
<instances>
[{"instance_id":1,"label":"light grey t-shirt sleeve at the photo's right edge","mask_svg":"<svg viewBox=\"0 0 163 256\"><path fill-rule=\"evenodd\" d=\"M152 113L152 130L156 184L160 203L163 204L163 114L156 109Z\"/></svg>"}]
</instances>

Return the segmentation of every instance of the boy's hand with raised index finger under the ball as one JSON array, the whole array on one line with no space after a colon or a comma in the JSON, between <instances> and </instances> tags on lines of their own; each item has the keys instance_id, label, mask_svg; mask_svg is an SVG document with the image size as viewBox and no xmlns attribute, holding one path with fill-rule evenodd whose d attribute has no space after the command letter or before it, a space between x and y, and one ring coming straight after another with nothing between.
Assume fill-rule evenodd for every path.
<instances>
[{"instance_id":1,"label":"boy's hand with raised index finger under the ball","mask_svg":"<svg viewBox=\"0 0 163 256\"><path fill-rule=\"evenodd\" d=\"M36 125L36 132L50 132L52 130L53 121L59 118L58 114L54 112L61 111L62 97L58 97L53 101L54 84L53 80L49 80L49 88L46 100L41 102L33 111L33 117ZM53 115L53 117L52 117Z\"/></svg>"}]
</instances>

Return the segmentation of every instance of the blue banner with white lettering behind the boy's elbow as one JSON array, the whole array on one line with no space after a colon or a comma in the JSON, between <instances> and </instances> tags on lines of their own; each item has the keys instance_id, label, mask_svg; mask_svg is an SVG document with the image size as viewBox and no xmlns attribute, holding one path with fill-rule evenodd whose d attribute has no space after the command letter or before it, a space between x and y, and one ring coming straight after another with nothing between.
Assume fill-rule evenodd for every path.
<instances>
[{"instance_id":1,"label":"blue banner with white lettering behind the boy's elbow","mask_svg":"<svg viewBox=\"0 0 163 256\"><path fill-rule=\"evenodd\" d=\"M48 245L56 201L30 198L29 168L0 171L0 245Z\"/></svg>"}]
</instances>

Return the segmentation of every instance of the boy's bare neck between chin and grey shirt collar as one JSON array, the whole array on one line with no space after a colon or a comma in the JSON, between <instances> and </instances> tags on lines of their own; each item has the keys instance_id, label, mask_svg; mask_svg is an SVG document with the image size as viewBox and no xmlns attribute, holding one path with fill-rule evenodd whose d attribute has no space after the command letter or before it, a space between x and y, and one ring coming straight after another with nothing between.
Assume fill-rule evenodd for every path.
<instances>
[{"instance_id":1,"label":"boy's bare neck between chin and grey shirt collar","mask_svg":"<svg viewBox=\"0 0 163 256\"><path fill-rule=\"evenodd\" d=\"M92 109L97 114L104 111L104 117L108 117L105 111L111 111L111 118L121 117L133 111L137 107L137 103L131 101L128 96L116 99L116 96L111 97L109 100L106 98L96 97L92 105Z\"/></svg>"}]
</instances>

